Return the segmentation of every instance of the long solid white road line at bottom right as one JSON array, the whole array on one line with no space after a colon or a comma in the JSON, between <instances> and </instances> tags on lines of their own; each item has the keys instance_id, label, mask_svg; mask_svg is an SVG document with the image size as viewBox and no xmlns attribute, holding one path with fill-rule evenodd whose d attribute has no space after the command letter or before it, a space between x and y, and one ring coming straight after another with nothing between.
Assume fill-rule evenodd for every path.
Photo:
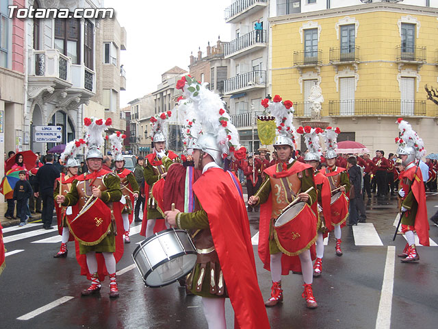
<instances>
[{"instance_id":1,"label":"long solid white road line at bottom right","mask_svg":"<svg viewBox=\"0 0 438 329\"><path fill-rule=\"evenodd\" d=\"M396 258L396 247L394 247L394 245L389 245L387 250L385 273L383 273L381 300L378 303L376 329L391 328L392 291L394 289L394 263Z\"/></svg>"}]
</instances>

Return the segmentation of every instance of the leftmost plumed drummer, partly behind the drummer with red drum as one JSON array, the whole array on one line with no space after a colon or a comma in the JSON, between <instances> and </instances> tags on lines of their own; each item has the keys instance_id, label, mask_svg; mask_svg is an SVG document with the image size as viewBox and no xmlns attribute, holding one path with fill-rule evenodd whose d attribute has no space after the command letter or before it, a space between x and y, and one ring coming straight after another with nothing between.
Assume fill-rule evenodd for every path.
<instances>
[{"instance_id":1,"label":"leftmost plumed drummer, partly behind the drummer with red drum","mask_svg":"<svg viewBox=\"0 0 438 329\"><path fill-rule=\"evenodd\" d=\"M77 170L79 169L80 163L77 159L75 159L75 155L77 153L77 149L81 147L81 145L85 144L83 139L79 139L77 141L70 141L67 143L64 152L62 152L60 158L63 163L65 163L66 173L61 173L61 177L55 180L55 187L53 188L53 197L56 199L57 195L61 194L66 195L70 192L71 184L73 180L77 178ZM67 207L64 206L55 206L56 217L57 217L57 230L62 235L61 247L60 251L53 256L54 258L66 257L67 243L68 241L74 241L75 238L73 235L70 235L70 230L67 224L66 210ZM71 208L70 208L71 210Z\"/></svg>"}]
</instances>

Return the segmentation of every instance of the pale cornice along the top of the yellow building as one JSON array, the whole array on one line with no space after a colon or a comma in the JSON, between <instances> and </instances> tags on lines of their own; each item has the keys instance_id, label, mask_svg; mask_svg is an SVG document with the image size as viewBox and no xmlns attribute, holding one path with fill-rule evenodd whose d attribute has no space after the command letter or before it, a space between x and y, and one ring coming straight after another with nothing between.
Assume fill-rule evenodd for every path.
<instances>
[{"instance_id":1,"label":"pale cornice along the top of the yellow building","mask_svg":"<svg viewBox=\"0 0 438 329\"><path fill-rule=\"evenodd\" d=\"M400 14L417 14L438 16L437 8L421 7L419 5L404 5L400 3L367 3L362 5L351 5L342 8L318 10L315 12L301 12L285 16L276 16L268 19L270 25L292 23L297 21L309 21L315 19L326 19L353 14L364 14L367 12L400 12Z\"/></svg>"}]
</instances>

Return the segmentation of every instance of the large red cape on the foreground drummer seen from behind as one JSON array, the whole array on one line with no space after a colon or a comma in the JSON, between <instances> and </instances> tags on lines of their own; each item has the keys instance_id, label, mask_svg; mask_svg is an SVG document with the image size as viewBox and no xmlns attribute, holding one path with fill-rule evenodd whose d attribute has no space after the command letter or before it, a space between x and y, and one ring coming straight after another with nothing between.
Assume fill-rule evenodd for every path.
<instances>
[{"instance_id":1,"label":"large red cape on the foreground drummer seen from behind","mask_svg":"<svg viewBox=\"0 0 438 329\"><path fill-rule=\"evenodd\" d=\"M235 312L235 328L270 328L257 282L242 186L231 178L230 172L211 168L193 184L193 189L208 215L214 247Z\"/></svg>"}]
</instances>

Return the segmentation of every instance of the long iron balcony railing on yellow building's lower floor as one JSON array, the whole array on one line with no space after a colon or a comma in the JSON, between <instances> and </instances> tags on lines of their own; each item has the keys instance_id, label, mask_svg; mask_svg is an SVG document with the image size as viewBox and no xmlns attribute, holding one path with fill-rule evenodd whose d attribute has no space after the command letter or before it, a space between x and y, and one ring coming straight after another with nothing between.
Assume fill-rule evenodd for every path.
<instances>
[{"instance_id":1,"label":"long iron balcony railing on yellow building's lower floor","mask_svg":"<svg viewBox=\"0 0 438 329\"><path fill-rule=\"evenodd\" d=\"M348 99L329 101L330 116L426 116L426 101L409 99Z\"/></svg>"}]
</instances>

